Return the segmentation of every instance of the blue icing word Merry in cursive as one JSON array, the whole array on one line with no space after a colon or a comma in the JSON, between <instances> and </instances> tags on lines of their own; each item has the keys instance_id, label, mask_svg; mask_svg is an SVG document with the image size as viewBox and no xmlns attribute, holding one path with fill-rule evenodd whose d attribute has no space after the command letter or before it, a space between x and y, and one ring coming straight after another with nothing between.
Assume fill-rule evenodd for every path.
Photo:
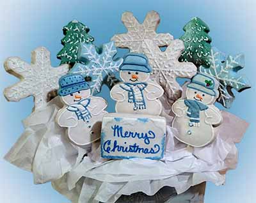
<instances>
[{"instance_id":1,"label":"blue icing word Merry in cursive","mask_svg":"<svg viewBox=\"0 0 256 203\"><path fill-rule=\"evenodd\" d=\"M156 134L152 130L148 130L146 133L139 133L139 132L131 132L131 131L125 131L123 132L123 127L119 126L118 124L115 124L114 126L111 126L113 130L113 137L122 137L122 138L138 138L143 139L145 144L150 144L150 139L155 139Z\"/></svg>"}]
</instances>

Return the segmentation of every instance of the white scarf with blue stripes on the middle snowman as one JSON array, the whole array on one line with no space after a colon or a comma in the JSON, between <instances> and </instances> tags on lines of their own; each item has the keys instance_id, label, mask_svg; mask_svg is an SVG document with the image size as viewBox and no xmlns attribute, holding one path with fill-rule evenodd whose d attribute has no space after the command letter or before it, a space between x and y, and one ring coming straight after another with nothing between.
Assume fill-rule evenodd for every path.
<instances>
[{"instance_id":1,"label":"white scarf with blue stripes on the middle snowman","mask_svg":"<svg viewBox=\"0 0 256 203\"><path fill-rule=\"evenodd\" d=\"M128 92L128 102L133 103L133 110L146 109L143 89L147 87L147 83L140 82L136 84L131 84L126 82L121 84L120 87Z\"/></svg>"}]
</instances>

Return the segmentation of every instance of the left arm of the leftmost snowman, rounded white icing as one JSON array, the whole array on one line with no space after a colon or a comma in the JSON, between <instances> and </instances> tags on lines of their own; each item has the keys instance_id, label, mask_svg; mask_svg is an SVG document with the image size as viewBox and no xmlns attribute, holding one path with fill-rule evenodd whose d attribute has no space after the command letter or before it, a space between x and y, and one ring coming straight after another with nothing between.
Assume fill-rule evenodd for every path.
<instances>
[{"instance_id":1,"label":"left arm of the leftmost snowman, rounded white icing","mask_svg":"<svg viewBox=\"0 0 256 203\"><path fill-rule=\"evenodd\" d=\"M55 120L61 127L77 126L76 115L74 112L67 110L67 107L63 107L63 109L58 111Z\"/></svg>"}]
</instances>

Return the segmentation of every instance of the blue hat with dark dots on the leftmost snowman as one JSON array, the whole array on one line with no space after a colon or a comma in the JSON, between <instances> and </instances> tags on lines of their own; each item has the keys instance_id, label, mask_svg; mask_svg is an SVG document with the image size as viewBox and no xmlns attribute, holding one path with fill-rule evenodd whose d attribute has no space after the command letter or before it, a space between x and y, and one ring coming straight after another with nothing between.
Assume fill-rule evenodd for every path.
<instances>
[{"instance_id":1,"label":"blue hat with dark dots on the leftmost snowman","mask_svg":"<svg viewBox=\"0 0 256 203\"><path fill-rule=\"evenodd\" d=\"M60 96L66 96L68 94L76 93L77 91L90 89L90 86L85 81L84 77L79 74L63 75L59 80L59 86L60 89L58 89L58 94Z\"/></svg>"}]
</instances>

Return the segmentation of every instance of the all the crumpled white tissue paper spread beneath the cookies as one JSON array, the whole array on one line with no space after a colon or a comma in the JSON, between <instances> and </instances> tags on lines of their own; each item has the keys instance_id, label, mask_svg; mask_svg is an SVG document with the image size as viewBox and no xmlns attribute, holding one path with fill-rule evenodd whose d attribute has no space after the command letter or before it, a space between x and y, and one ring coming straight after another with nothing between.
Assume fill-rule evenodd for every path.
<instances>
[{"instance_id":1,"label":"all the crumpled white tissue paper spread beneath the cookies","mask_svg":"<svg viewBox=\"0 0 256 203\"><path fill-rule=\"evenodd\" d=\"M225 172L236 167L235 143L240 142L248 127L245 121L223 111L216 140L193 148L175 139L177 130L170 127L172 117L166 116L163 159L107 160L100 157L99 141L86 148L69 142L65 128L54 121L61 107L56 97L25 119L25 132L5 159L33 172L35 183L52 181L53 188L73 203L115 202L121 195L136 192L154 195L163 186L183 193L204 181L223 184Z\"/></svg>"}]
</instances>

